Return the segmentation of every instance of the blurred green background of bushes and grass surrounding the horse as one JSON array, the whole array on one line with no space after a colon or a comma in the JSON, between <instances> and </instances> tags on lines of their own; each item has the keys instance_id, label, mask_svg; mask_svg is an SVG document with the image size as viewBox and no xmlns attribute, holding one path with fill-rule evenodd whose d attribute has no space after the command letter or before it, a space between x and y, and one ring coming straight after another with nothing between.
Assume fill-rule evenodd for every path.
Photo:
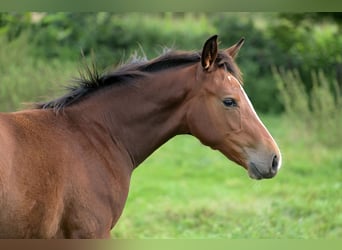
<instances>
[{"instance_id":1,"label":"blurred green background of bushes and grass surrounding the horse","mask_svg":"<svg viewBox=\"0 0 342 250\"><path fill-rule=\"evenodd\" d=\"M245 37L236 61L283 152L279 176L253 182L176 137L136 170L113 237L338 238L341 30L341 13L0 13L0 111L64 93L82 53L105 70L132 54L199 51L213 34L221 48Z\"/></svg>"}]
</instances>

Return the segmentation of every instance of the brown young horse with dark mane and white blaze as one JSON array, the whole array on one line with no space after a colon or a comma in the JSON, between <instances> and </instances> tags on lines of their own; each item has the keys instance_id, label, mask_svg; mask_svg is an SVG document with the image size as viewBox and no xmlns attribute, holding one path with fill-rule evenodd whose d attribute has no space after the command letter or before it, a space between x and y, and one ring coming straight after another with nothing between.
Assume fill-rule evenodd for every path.
<instances>
[{"instance_id":1,"label":"brown young horse with dark mane and white blaze","mask_svg":"<svg viewBox=\"0 0 342 250\"><path fill-rule=\"evenodd\" d=\"M168 52L113 72L88 72L69 92L0 114L0 237L109 237L132 171L178 134L191 134L248 170L275 176L277 144L242 88L233 58Z\"/></svg>"}]
</instances>

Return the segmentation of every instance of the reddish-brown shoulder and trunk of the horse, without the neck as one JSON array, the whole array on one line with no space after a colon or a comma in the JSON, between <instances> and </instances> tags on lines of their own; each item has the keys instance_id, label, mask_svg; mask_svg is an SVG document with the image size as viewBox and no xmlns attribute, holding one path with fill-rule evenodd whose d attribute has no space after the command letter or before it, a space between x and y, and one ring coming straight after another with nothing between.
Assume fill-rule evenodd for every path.
<instances>
[{"instance_id":1,"label":"reddish-brown shoulder and trunk of the horse, without the neck","mask_svg":"<svg viewBox=\"0 0 342 250\"><path fill-rule=\"evenodd\" d=\"M116 145L94 149L95 139L48 110L0 121L1 238L108 236L130 177Z\"/></svg>"}]
</instances>

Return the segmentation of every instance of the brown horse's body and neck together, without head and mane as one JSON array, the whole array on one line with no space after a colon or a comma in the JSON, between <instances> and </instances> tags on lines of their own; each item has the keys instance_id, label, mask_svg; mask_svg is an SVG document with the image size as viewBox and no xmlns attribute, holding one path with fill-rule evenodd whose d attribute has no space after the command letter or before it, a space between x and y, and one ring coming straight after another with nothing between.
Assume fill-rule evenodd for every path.
<instances>
[{"instance_id":1,"label":"brown horse's body and neck together, without head and mane","mask_svg":"<svg viewBox=\"0 0 342 250\"><path fill-rule=\"evenodd\" d=\"M148 88L169 90L160 80ZM0 176L6 183L1 183L0 237L108 237L133 169L181 132L175 121L185 116L176 99L184 99L168 92L162 100L121 88L90 97L96 105L84 102L58 115L51 109L1 114ZM150 104L139 106L143 99ZM133 111L122 109L132 100ZM141 122L150 124L142 130Z\"/></svg>"}]
</instances>

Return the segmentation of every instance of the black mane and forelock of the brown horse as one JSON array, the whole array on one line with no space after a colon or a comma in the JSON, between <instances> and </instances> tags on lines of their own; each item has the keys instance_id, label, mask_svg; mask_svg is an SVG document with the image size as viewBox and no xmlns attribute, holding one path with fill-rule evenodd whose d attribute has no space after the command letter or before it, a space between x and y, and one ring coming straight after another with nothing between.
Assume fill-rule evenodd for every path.
<instances>
[{"instance_id":1,"label":"black mane and forelock of the brown horse","mask_svg":"<svg viewBox=\"0 0 342 250\"><path fill-rule=\"evenodd\" d=\"M148 61L145 57L131 56L131 60L111 72L99 73L94 63L85 64L80 77L75 79L73 85L67 86L68 93L62 97L48 102L36 103L36 109L55 109L56 111L83 100L99 89L108 86L118 86L134 82L134 79L146 77L148 74L162 70L187 66L199 62L199 52L168 51L163 55ZM223 52L219 52L216 63L224 65L227 71L242 82L241 72L233 59Z\"/></svg>"}]
</instances>

